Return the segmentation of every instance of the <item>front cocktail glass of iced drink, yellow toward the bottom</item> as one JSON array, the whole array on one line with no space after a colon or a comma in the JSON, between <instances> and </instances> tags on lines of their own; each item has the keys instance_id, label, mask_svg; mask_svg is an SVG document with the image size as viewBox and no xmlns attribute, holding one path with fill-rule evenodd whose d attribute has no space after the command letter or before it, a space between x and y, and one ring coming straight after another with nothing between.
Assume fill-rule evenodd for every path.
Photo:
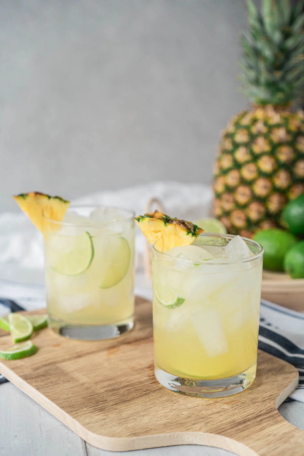
<instances>
[{"instance_id":1,"label":"front cocktail glass of iced drink, yellow toward the bottom","mask_svg":"<svg viewBox=\"0 0 304 456\"><path fill-rule=\"evenodd\" d=\"M209 260L170 256L153 244L155 376L168 389L228 396L256 376L263 248L238 236L228 249L233 238L201 234L193 245L215 257Z\"/></svg>"}]
</instances>

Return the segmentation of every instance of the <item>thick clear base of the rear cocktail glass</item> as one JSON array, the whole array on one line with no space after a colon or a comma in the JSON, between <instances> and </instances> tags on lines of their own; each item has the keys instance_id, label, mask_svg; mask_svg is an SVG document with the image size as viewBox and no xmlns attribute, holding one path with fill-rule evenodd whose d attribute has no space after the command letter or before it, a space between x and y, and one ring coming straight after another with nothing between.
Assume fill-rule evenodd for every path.
<instances>
[{"instance_id":1,"label":"thick clear base of the rear cocktail glass","mask_svg":"<svg viewBox=\"0 0 304 456\"><path fill-rule=\"evenodd\" d=\"M49 328L56 334L82 341L99 341L119 337L134 326L134 318L112 325L79 325L48 317Z\"/></svg>"}]
</instances>

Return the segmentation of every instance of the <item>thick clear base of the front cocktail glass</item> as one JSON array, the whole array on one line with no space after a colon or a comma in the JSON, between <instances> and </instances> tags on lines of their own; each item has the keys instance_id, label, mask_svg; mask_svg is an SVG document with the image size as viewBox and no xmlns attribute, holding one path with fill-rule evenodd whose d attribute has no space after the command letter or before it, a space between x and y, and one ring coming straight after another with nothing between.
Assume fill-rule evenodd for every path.
<instances>
[{"instance_id":1,"label":"thick clear base of the front cocktail glass","mask_svg":"<svg viewBox=\"0 0 304 456\"><path fill-rule=\"evenodd\" d=\"M246 371L233 377L199 380L196 378L176 377L155 364L155 377L165 388L177 393L204 398L220 398L241 393L252 384L256 371L257 363L254 363Z\"/></svg>"}]
</instances>

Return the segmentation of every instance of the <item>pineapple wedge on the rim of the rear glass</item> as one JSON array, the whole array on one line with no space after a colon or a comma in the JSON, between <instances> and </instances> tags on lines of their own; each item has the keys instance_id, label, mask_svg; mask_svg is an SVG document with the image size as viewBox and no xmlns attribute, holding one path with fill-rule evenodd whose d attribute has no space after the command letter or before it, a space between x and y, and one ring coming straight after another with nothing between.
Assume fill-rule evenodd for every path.
<instances>
[{"instance_id":1,"label":"pineapple wedge on the rim of the rear glass","mask_svg":"<svg viewBox=\"0 0 304 456\"><path fill-rule=\"evenodd\" d=\"M61 222L70 204L61 197L50 197L39 192L21 193L15 195L14 199L41 233L46 228L44 218Z\"/></svg>"}]
</instances>

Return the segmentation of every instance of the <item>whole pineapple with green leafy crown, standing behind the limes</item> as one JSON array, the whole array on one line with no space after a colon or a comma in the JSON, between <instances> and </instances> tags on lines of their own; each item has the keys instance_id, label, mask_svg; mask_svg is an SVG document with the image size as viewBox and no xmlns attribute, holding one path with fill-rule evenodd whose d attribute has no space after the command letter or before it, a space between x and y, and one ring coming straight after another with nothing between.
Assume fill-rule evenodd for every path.
<instances>
[{"instance_id":1,"label":"whole pineapple with green leafy crown, standing behind the limes","mask_svg":"<svg viewBox=\"0 0 304 456\"><path fill-rule=\"evenodd\" d=\"M304 113L292 104L304 88L303 2L247 0L242 80L252 109L222 133L214 170L213 212L229 233L252 237L280 226L286 203L304 192Z\"/></svg>"}]
</instances>

